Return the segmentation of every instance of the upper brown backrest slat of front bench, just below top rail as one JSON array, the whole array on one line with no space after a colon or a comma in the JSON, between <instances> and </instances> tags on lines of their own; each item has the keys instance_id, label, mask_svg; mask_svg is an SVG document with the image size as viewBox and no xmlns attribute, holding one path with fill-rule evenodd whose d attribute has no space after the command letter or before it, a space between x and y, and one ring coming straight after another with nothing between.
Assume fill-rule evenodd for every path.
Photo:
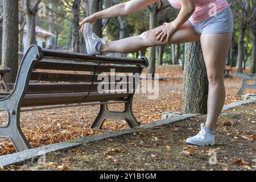
<instances>
[{"instance_id":1,"label":"upper brown backrest slat of front bench, just below top rail","mask_svg":"<svg viewBox=\"0 0 256 182\"><path fill-rule=\"evenodd\" d=\"M94 71L95 65L92 64L79 64L79 63L65 63L63 61L39 61L36 63L34 69L49 69L49 70L62 70L62 71ZM118 65L100 65L97 67L97 72L110 72L115 69L117 73L140 73L140 67L121 67Z\"/></svg>"}]
</instances>

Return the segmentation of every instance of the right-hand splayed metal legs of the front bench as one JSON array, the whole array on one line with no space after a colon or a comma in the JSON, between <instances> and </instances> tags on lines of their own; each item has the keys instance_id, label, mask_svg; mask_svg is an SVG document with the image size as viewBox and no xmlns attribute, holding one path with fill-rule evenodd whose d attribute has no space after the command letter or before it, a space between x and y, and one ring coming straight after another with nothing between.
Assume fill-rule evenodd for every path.
<instances>
[{"instance_id":1,"label":"right-hand splayed metal legs of the front bench","mask_svg":"<svg viewBox=\"0 0 256 182\"><path fill-rule=\"evenodd\" d=\"M110 111L107 104L100 105L98 114L90 127L92 129L101 129L106 119L124 119L130 127L139 126L137 119L133 115L132 100L125 102L124 111Z\"/></svg>"}]
</instances>

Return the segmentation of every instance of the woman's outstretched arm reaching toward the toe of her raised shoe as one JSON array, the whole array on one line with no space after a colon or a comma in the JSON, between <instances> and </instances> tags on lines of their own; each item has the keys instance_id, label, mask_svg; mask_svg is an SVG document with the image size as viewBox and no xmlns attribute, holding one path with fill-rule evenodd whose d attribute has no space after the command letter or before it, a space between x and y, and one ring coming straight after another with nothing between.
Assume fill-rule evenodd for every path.
<instances>
[{"instance_id":1,"label":"woman's outstretched arm reaching toward the toe of her raised shoe","mask_svg":"<svg viewBox=\"0 0 256 182\"><path fill-rule=\"evenodd\" d=\"M142 10L144 7L147 7L148 5L151 5L152 3L155 3L157 1L158 0L131 0L124 3L120 3L118 5L109 7L106 10L102 10L93 15L88 16L80 23L80 26L83 26L84 23L87 22L96 22L97 19L114 18L117 16L129 15L139 10Z\"/></svg>"}]
</instances>

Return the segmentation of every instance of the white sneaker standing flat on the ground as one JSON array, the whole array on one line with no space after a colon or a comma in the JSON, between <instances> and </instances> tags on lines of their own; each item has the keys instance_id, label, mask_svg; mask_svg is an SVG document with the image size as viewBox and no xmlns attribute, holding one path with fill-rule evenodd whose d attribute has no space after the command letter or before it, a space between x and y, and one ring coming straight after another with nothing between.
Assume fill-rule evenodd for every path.
<instances>
[{"instance_id":1,"label":"white sneaker standing flat on the ground","mask_svg":"<svg viewBox=\"0 0 256 182\"><path fill-rule=\"evenodd\" d=\"M208 146L209 144L214 146L214 135L210 135L204 130L204 123L201 124L201 131L195 136L186 140L188 144L195 144L197 146Z\"/></svg>"}]
</instances>

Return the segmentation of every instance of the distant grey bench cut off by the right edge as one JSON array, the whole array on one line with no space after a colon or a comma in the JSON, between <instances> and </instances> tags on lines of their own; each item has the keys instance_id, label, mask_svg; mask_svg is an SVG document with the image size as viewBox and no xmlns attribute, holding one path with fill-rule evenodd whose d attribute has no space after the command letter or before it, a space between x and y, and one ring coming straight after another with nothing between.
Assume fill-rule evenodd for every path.
<instances>
[{"instance_id":1,"label":"distant grey bench cut off by the right edge","mask_svg":"<svg viewBox=\"0 0 256 182\"><path fill-rule=\"evenodd\" d=\"M245 89L256 89L256 75L255 74L236 73L236 77L241 77L243 79L242 86L237 93L238 96L242 96ZM247 80L254 80L255 84L247 84Z\"/></svg>"}]
</instances>

